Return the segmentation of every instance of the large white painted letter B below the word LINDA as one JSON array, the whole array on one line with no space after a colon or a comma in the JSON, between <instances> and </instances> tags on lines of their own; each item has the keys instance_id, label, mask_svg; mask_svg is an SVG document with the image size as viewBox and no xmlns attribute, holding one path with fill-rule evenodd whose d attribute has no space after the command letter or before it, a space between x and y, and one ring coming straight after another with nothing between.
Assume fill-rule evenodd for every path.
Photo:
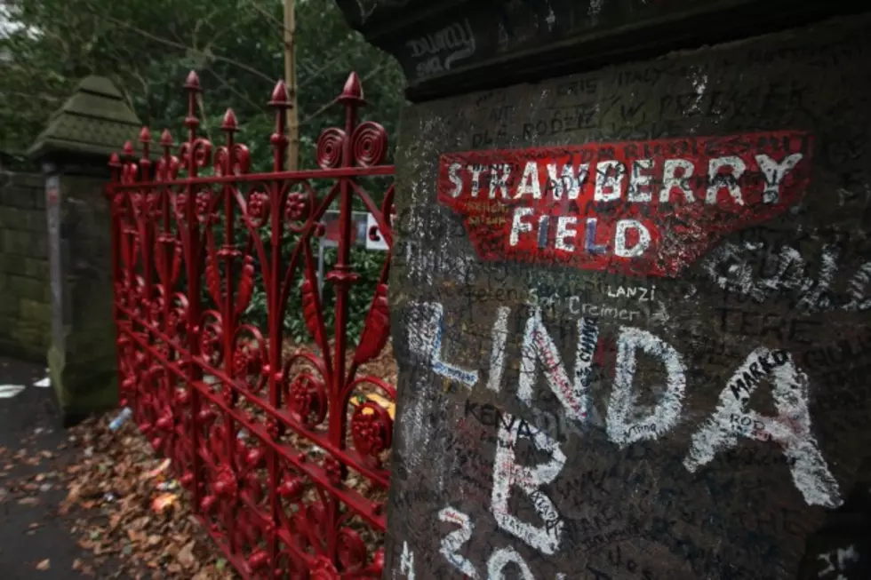
<instances>
[{"instance_id":1,"label":"large white painted letter B below the word LINDA","mask_svg":"<svg viewBox=\"0 0 871 580\"><path fill-rule=\"evenodd\" d=\"M556 479L565 465L565 455L559 443L542 433L523 420L505 415L504 423L499 423L499 438L496 445L496 457L493 460L493 491L491 509L499 528L510 532L531 545L539 552L554 554L562 541L565 522L540 486L547 485ZM518 465L515 459L515 446L523 429L525 436L540 451L550 454L547 463L529 467ZM544 522L544 526L534 526L519 520L508 512L508 497L511 489L523 491L529 497L535 512Z\"/></svg>"}]
</instances>

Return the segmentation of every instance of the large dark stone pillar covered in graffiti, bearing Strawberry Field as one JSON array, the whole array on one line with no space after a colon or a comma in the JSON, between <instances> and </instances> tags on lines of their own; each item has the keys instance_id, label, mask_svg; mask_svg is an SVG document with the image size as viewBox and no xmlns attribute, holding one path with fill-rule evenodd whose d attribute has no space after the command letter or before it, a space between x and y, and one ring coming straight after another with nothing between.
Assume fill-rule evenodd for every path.
<instances>
[{"instance_id":1,"label":"large dark stone pillar covered in graffiti, bearing Strawberry Field","mask_svg":"<svg viewBox=\"0 0 871 580\"><path fill-rule=\"evenodd\" d=\"M387 577L871 577L871 18L340 4L415 101Z\"/></svg>"}]
</instances>

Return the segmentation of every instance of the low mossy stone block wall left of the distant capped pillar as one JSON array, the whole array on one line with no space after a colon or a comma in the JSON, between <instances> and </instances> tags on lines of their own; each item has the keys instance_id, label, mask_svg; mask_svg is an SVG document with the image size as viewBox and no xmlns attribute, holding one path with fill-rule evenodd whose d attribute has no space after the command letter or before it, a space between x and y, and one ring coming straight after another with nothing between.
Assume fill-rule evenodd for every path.
<instances>
[{"instance_id":1,"label":"low mossy stone block wall left of the distant capped pillar","mask_svg":"<svg viewBox=\"0 0 871 580\"><path fill-rule=\"evenodd\" d=\"M0 172L0 354L43 361L51 331L44 180Z\"/></svg>"}]
</instances>

